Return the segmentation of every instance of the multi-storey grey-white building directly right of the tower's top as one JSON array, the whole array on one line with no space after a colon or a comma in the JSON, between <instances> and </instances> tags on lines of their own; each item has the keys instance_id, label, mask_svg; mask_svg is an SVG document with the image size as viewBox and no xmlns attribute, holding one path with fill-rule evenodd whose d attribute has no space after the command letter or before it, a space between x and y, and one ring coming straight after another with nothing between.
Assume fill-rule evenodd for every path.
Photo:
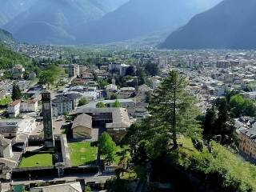
<instances>
[{"instance_id":1,"label":"multi-storey grey-white building directly right of the tower's top","mask_svg":"<svg viewBox=\"0 0 256 192\"><path fill-rule=\"evenodd\" d=\"M78 107L82 98L81 94L60 94L57 95L53 102L53 115L57 117L64 113L70 113Z\"/></svg>"}]
</instances>

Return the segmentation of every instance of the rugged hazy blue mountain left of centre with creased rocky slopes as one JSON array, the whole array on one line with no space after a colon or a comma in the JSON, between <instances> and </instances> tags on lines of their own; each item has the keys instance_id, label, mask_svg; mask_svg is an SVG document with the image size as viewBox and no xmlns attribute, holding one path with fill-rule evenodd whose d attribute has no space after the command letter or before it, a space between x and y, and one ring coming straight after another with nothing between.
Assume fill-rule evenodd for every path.
<instances>
[{"instance_id":1,"label":"rugged hazy blue mountain left of centre with creased rocky slopes","mask_svg":"<svg viewBox=\"0 0 256 192\"><path fill-rule=\"evenodd\" d=\"M37 0L4 29L21 42L71 44L78 26L102 18L123 2L126 0Z\"/></svg>"}]
</instances>

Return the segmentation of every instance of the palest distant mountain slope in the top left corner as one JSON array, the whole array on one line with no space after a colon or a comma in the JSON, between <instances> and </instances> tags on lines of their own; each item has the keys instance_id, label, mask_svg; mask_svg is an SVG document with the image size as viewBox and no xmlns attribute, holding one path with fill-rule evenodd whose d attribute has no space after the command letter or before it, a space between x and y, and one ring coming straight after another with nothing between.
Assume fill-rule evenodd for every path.
<instances>
[{"instance_id":1,"label":"palest distant mountain slope in the top left corner","mask_svg":"<svg viewBox=\"0 0 256 192\"><path fill-rule=\"evenodd\" d=\"M30 8L37 0L3 0L0 6L0 26Z\"/></svg>"}]
</instances>

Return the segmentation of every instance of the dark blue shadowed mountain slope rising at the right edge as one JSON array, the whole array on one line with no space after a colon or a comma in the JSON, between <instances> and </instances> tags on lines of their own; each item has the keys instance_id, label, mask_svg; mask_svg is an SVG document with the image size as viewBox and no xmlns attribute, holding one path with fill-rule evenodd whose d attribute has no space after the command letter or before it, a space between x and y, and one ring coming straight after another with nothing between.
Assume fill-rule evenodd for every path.
<instances>
[{"instance_id":1,"label":"dark blue shadowed mountain slope rising at the right edge","mask_svg":"<svg viewBox=\"0 0 256 192\"><path fill-rule=\"evenodd\" d=\"M166 39L169 49L255 49L256 1L224 0Z\"/></svg>"}]
</instances>

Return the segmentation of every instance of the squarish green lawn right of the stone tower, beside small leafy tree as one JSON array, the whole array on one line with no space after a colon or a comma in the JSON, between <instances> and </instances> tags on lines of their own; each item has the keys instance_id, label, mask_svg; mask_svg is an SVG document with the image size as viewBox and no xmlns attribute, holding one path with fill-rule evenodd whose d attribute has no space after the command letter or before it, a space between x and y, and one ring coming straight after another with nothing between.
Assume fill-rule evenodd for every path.
<instances>
[{"instance_id":1,"label":"squarish green lawn right of the stone tower, beside small leafy tree","mask_svg":"<svg viewBox=\"0 0 256 192\"><path fill-rule=\"evenodd\" d=\"M90 142L69 143L70 162L72 166L89 165L96 160L98 148L90 146Z\"/></svg>"}]
</instances>

